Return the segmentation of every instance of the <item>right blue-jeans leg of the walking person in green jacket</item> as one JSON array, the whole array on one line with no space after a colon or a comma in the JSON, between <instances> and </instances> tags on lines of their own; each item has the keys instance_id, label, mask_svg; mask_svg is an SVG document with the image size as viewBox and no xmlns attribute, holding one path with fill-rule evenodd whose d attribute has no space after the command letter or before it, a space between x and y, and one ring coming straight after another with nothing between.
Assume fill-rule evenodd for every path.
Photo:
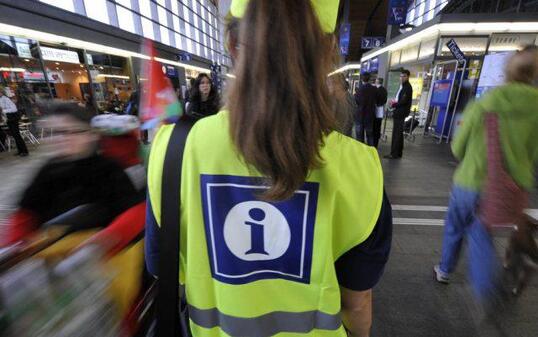
<instances>
[{"instance_id":1,"label":"right blue-jeans leg of the walking person in green jacket","mask_svg":"<svg viewBox=\"0 0 538 337\"><path fill-rule=\"evenodd\" d=\"M476 297L483 303L497 293L500 262L493 238L478 217L468 230L470 280Z\"/></svg>"}]
</instances>

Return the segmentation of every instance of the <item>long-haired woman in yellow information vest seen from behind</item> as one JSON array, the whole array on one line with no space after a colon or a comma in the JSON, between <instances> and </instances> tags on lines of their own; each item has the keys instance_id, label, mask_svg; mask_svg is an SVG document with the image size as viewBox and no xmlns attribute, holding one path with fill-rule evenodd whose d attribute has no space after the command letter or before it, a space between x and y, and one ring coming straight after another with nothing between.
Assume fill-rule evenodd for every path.
<instances>
[{"instance_id":1,"label":"long-haired woman in yellow information vest seen from behind","mask_svg":"<svg viewBox=\"0 0 538 337\"><path fill-rule=\"evenodd\" d=\"M237 53L229 110L194 125L181 172L178 261L194 337L369 335L392 216L375 149L334 131L322 28L334 31L337 13L338 1L232 3L237 46L249 48L228 48ZM150 157L154 275L175 130L160 129Z\"/></svg>"}]
</instances>

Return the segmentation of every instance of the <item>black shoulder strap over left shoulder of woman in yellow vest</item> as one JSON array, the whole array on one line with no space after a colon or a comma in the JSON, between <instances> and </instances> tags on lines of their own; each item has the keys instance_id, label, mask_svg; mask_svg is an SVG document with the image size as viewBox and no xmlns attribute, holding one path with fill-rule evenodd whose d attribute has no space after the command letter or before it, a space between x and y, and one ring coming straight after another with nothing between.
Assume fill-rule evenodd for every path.
<instances>
[{"instance_id":1,"label":"black shoulder strap over left shoulder of woman in yellow vest","mask_svg":"<svg viewBox=\"0 0 538 337\"><path fill-rule=\"evenodd\" d=\"M162 173L159 272L155 300L158 337L189 337L185 296L179 291L181 168L187 135L193 123L175 124L168 141Z\"/></svg>"}]
</instances>

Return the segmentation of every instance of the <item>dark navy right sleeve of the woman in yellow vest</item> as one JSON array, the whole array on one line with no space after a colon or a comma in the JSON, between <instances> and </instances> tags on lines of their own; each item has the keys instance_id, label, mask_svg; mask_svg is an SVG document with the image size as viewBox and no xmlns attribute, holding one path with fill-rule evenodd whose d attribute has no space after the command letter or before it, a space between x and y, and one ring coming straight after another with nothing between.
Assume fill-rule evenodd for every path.
<instances>
[{"instance_id":1,"label":"dark navy right sleeve of the woman in yellow vest","mask_svg":"<svg viewBox=\"0 0 538 337\"><path fill-rule=\"evenodd\" d=\"M392 243L392 208L383 195L383 205L370 237L342 255L335 263L338 283L347 289L373 288L385 270Z\"/></svg>"}]
</instances>

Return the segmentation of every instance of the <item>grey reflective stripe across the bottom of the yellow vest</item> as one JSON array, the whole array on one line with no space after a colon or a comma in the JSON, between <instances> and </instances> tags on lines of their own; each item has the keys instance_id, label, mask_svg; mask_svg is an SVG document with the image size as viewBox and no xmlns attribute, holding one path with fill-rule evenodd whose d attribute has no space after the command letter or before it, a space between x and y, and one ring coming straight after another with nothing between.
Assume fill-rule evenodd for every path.
<instances>
[{"instance_id":1,"label":"grey reflective stripe across the bottom of the yellow vest","mask_svg":"<svg viewBox=\"0 0 538 337\"><path fill-rule=\"evenodd\" d=\"M243 318L223 314L218 309L197 309L189 305L190 319L211 329L219 327L230 336L269 337L278 333L308 333L314 329L338 330L342 325L340 313L329 315L321 311L277 311L263 316Z\"/></svg>"}]
</instances>

